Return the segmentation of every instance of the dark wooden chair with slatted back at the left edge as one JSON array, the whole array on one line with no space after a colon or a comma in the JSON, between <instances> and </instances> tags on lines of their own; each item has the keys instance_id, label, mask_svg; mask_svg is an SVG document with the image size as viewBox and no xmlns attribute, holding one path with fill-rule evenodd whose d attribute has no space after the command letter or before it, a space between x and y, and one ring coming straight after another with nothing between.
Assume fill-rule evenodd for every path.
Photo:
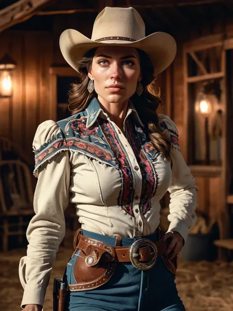
<instances>
[{"instance_id":1,"label":"dark wooden chair with slatted back at the left edge","mask_svg":"<svg viewBox=\"0 0 233 311\"><path fill-rule=\"evenodd\" d=\"M22 244L25 235L25 216L34 215L33 188L30 170L20 160L0 161L0 219L2 222L2 250L8 250L9 236L18 236ZM17 220L15 221L14 218ZM17 228L17 230L12 230Z\"/></svg>"}]
</instances>

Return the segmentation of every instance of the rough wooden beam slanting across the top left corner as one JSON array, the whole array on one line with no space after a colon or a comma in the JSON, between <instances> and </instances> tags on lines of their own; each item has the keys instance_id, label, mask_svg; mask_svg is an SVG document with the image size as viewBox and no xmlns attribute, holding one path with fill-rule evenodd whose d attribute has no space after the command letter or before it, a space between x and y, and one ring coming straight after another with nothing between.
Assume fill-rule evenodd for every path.
<instances>
[{"instance_id":1,"label":"rough wooden beam slanting across the top left corner","mask_svg":"<svg viewBox=\"0 0 233 311\"><path fill-rule=\"evenodd\" d=\"M0 32L32 17L36 9L54 0L20 0L0 10Z\"/></svg>"}]
</instances>

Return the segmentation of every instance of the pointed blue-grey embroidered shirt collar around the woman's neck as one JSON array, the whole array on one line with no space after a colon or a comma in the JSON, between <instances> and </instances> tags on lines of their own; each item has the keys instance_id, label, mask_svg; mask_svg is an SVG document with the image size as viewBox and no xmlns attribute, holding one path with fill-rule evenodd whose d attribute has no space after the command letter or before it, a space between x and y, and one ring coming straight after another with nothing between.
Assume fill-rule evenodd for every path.
<instances>
[{"instance_id":1,"label":"pointed blue-grey embroidered shirt collar around the woman's neck","mask_svg":"<svg viewBox=\"0 0 233 311\"><path fill-rule=\"evenodd\" d=\"M103 109L101 108L98 99L96 97L94 97L93 99L91 99L91 101L89 102L87 108L87 124L86 127L90 127L91 125L93 125L96 121L96 119L98 118L98 116L101 114L101 118L103 119L107 119L108 115L103 111ZM142 123L141 119L139 118L138 112L134 107L134 104L132 103L131 100L129 100L129 104L128 104L128 109L127 109L127 113L126 113L126 117L125 120L128 118L128 116L133 113L135 119L138 121L138 123L144 127L144 124Z\"/></svg>"}]
</instances>

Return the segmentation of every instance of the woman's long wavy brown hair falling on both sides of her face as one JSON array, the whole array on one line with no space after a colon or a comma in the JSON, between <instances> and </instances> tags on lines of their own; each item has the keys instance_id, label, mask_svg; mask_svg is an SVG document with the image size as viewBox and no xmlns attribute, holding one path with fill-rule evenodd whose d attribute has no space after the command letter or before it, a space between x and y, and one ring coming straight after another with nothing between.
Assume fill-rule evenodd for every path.
<instances>
[{"instance_id":1,"label":"woman's long wavy brown hair falling on both sides of her face","mask_svg":"<svg viewBox=\"0 0 233 311\"><path fill-rule=\"evenodd\" d=\"M72 114L78 113L87 107L87 104L97 93L89 93L87 85L89 83L88 70L91 67L96 48L88 51L85 56L77 62L77 71L79 72L79 82L72 84L69 92L68 109ZM157 109L162 104L160 91L158 92L154 77L154 67L147 54L137 49L140 57L140 66L142 73L141 83L143 93L138 96L135 92L132 96L132 102L144 124L145 133L154 147L171 161L171 140L166 130L160 127L158 121Z\"/></svg>"}]
</instances>

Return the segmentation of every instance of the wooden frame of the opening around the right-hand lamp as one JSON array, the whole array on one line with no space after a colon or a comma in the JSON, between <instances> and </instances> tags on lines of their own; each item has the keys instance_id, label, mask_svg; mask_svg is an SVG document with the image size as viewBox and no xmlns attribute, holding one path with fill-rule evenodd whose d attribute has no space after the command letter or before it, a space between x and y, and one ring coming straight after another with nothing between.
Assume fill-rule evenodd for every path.
<instances>
[{"instance_id":1,"label":"wooden frame of the opening around the right-hand lamp","mask_svg":"<svg viewBox=\"0 0 233 311\"><path fill-rule=\"evenodd\" d=\"M220 211L219 214L219 230L221 238L228 237L229 234L229 219L228 219L228 195L229 195L229 172L228 172L228 146L227 146L227 72L226 72L226 51L233 49L233 38L226 39L225 33L214 34L210 36L204 36L196 40L191 40L184 43L183 46L183 65L184 65L184 119L183 119L183 139L185 142L184 148L184 158L188 160L188 124L190 119L190 107L189 107L189 96L188 96L188 85L190 82L199 81L198 77L188 77L187 69L187 54L190 52L197 52L205 50L211 47L222 46L222 55L221 55L221 71L218 73L204 74L203 80L208 78L218 78L222 77L224 79L224 97L223 97L223 145L222 145L222 165L221 167L211 167L211 166L201 166L201 165L191 165L192 171L196 169L200 176L212 177L212 173L217 173L221 179L220 183ZM199 77L200 78L200 77ZM202 79L202 78L201 78ZM200 80L201 81L201 80ZM203 174L204 173L204 174ZM230 196L229 196L230 198Z\"/></svg>"}]
</instances>

